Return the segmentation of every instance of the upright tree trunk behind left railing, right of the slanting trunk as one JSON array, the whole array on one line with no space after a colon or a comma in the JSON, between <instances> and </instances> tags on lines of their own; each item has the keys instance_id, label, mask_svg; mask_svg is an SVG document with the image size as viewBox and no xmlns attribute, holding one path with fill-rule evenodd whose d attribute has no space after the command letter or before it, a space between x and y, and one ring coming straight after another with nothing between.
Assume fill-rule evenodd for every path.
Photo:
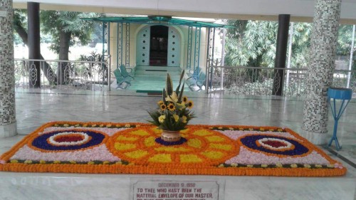
<instances>
[{"instance_id":1,"label":"upright tree trunk behind left railing, right of the slanting trunk","mask_svg":"<svg viewBox=\"0 0 356 200\"><path fill-rule=\"evenodd\" d=\"M60 31L59 36L59 60L69 60L69 42L71 33ZM58 63L57 78L58 85L66 85L70 83L70 63L60 62Z\"/></svg>"}]
</instances>

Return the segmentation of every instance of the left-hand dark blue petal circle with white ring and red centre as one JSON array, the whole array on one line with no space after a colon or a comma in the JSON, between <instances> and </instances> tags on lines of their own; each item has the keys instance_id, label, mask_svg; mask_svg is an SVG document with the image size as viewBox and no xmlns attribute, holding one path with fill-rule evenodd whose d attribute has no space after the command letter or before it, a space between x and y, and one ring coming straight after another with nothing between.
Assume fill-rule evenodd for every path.
<instances>
[{"instance_id":1,"label":"left-hand dark blue petal circle with white ring and red centre","mask_svg":"<svg viewBox=\"0 0 356 200\"><path fill-rule=\"evenodd\" d=\"M34 149L70 151L98 146L106 141L103 132L93 130L61 130L39 135L28 142Z\"/></svg>"}]
</instances>

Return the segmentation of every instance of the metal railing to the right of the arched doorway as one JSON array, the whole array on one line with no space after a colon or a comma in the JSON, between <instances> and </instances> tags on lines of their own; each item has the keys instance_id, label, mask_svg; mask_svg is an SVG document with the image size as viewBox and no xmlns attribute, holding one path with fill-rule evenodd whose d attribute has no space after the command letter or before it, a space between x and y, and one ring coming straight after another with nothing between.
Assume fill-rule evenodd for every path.
<instances>
[{"instance_id":1,"label":"metal railing to the right of the arched doorway","mask_svg":"<svg viewBox=\"0 0 356 200\"><path fill-rule=\"evenodd\" d=\"M207 91L224 90L225 94L233 95L276 95L283 84L283 96L303 96L307 71L306 68L210 66L206 79ZM280 75L283 76L283 83ZM355 78L356 70L335 70L333 87L351 88L355 93Z\"/></svg>"}]
</instances>

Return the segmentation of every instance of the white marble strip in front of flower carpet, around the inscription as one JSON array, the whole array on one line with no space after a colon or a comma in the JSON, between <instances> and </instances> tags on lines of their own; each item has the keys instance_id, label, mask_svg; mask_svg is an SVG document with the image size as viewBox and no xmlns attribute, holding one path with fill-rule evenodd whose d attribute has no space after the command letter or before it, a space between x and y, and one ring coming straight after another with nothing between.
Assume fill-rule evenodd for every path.
<instances>
[{"instance_id":1,"label":"white marble strip in front of flower carpet, around the inscription","mask_svg":"<svg viewBox=\"0 0 356 200\"><path fill-rule=\"evenodd\" d=\"M224 199L352 200L355 179L294 177L152 176L127 174L34 174L0 172L0 199L120 199L130 197L130 179L226 181Z\"/></svg>"}]
</instances>

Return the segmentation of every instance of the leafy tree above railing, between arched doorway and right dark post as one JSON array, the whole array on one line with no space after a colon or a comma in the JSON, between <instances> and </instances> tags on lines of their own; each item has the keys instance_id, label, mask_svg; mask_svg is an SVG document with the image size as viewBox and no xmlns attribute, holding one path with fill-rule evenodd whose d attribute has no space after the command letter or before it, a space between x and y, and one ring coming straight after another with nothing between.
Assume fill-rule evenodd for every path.
<instances>
[{"instance_id":1,"label":"leafy tree above railing, between arched doorway and right dark post","mask_svg":"<svg viewBox=\"0 0 356 200\"><path fill-rule=\"evenodd\" d=\"M226 65L273 67L278 23L275 21L228 21Z\"/></svg>"}]
</instances>

